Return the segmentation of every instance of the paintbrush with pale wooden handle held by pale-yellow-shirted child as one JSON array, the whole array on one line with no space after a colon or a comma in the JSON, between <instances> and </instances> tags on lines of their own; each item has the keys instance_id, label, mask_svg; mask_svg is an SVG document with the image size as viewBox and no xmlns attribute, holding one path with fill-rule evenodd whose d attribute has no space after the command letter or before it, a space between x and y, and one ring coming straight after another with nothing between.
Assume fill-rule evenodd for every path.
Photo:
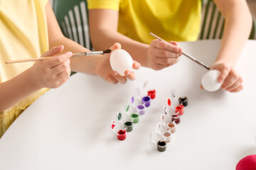
<instances>
[{"instance_id":1,"label":"paintbrush with pale wooden handle held by pale-yellow-shirted child","mask_svg":"<svg viewBox=\"0 0 256 170\"><path fill-rule=\"evenodd\" d=\"M86 55L102 55L106 53L110 53L111 50L104 50L104 51L94 51L94 52L80 52L80 53L74 53L71 58L73 57L82 57ZM40 57L40 58L33 58L33 59L21 59L21 60L11 60L7 61L6 64L13 64L13 63L20 63L20 62L35 62L40 60L47 60L51 57Z\"/></svg>"}]
</instances>

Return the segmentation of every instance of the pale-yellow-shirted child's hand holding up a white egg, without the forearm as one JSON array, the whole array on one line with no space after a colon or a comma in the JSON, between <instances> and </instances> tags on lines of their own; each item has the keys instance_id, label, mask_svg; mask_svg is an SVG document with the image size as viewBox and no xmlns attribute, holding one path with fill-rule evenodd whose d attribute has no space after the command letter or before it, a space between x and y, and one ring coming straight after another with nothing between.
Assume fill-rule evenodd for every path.
<instances>
[{"instance_id":1,"label":"pale-yellow-shirted child's hand holding up a white egg, without the forearm","mask_svg":"<svg viewBox=\"0 0 256 170\"><path fill-rule=\"evenodd\" d=\"M121 45L119 43L114 43L112 47L110 47L110 50L117 50L121 48ZM111 53L110 53L111 54ZM110 66L110 54L105 54L100 58L100 61L97 63L96 67L96 74L99 77L102 77L106 81L112 83L112 84L124 84L126 83L127 79L134 80L136 79L136 75L131 70L127 70L124 72L125 76L121 76L116 71L113 71ZM134 69L139 69L140 64L139 62L134 61L134 64L132 65Z\"/></svg>"}]
</instances>

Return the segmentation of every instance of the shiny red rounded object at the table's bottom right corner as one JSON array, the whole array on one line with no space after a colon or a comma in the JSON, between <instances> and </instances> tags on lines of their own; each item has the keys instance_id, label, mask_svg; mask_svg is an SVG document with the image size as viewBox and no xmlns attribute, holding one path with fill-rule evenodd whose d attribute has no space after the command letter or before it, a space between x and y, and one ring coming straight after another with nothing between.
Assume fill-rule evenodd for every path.
<instances>
[{"instance_id":1,"label":"shiny red rounded object at the table's bottom right corner","mask_svg":"<svg viewBox=\"0 0 256 170\"><path fill-rule=\"evenodd\" d=\"M252 170L256 169L256 154L250 154L247 157L242 158L235 170Z\"/></svg>"}]
</instances>

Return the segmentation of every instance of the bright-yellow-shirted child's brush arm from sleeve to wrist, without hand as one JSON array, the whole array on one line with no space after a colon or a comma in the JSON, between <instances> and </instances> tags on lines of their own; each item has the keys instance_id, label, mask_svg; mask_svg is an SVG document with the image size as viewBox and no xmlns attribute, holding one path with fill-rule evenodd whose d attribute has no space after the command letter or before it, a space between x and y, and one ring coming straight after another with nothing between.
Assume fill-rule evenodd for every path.
<instances>
[{"instance_id":1,"label":"bright-yellow-shirted child's brush arm from sleeve to wrist, without hand","mask_svg":"<svg viewBox=\"0 0 256 170\"><path fill-rule=\"evenodd\" d=\"M89 26L92 45L95 50L110 47L114 42L122 44L122 48L141 63L142 66L148 67L144 60L149 45L137 42L125 35L117 32L119 12L109 9L92 9L89 10Z\"/></svg>"}]
</instances>

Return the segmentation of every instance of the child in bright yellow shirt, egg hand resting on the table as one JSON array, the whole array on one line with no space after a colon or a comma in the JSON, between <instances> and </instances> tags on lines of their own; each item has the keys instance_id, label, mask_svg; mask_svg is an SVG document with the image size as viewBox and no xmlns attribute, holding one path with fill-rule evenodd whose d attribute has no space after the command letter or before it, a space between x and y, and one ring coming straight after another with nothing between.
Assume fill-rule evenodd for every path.
<instances>
[{"instance_id":1,"label":"child in bright yellow shirt, egg hand resting on the table","mask_svg":"<svg viewBox=\"0 0 256 170\"><path fill-rule=\"evenodd\" d=\"M95 50L121 42L144 67L164 69L181 56L176 41L195 41L201 24L201 0L87 0L90 37ZM218 57L210 69L218 69L222 89L242 90L242 77L235 71L242 47L252 27L245 0L214 0L225 18ZM169 43L154 40L152 32Z\"/></svg>"}]
</instances>

